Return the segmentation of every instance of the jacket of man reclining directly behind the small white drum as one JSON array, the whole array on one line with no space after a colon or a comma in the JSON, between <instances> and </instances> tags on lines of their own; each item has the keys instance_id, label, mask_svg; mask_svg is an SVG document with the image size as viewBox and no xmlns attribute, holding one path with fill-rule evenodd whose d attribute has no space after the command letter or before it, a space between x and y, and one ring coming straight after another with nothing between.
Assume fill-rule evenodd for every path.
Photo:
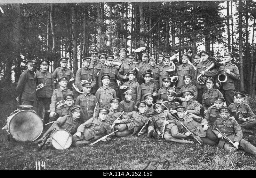
<instances>
[{"instance_id":1,"label":"jacket of man reclining directly behind the small white drum","mask_svg":"<svg viewBox=\"0 0 256 178\"><path fill-rule=\"evenodd\" d=\"M59 117L57 121L52 124L53 129L66 129L70 132L71 135L76 133L77 127L80 125L80 122L76 120L71 115L65 115L63 117Z\"/></svg>"}]
</instances>

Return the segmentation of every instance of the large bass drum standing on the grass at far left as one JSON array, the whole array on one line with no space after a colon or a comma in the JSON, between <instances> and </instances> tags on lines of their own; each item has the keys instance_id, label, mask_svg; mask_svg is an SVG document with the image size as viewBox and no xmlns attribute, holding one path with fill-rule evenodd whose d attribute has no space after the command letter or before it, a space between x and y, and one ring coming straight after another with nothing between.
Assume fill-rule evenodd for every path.
<instances>
[{"instance_id":1,"label":"large bass drum standing on the grass at far left","mask_svg":"<svg viewBox=\"0 0 256 178\"><path fill-rule=\"evenodd\" d=\"M7 118L7 131L19 142L36 140L43 127L42 119L33 110L18 110Z\"/></svg>"}]
</instances>

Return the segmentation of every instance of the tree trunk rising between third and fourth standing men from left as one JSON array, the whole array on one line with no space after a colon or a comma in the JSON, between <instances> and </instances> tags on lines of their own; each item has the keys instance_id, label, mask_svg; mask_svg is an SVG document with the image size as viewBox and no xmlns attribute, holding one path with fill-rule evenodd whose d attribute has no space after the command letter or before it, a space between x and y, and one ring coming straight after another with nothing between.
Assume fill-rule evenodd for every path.
<instances>
[{"instance_id":1,"label":"tree trunk rising between third and fourth standing men from left","mask_svg":"<svg viewBox=\"0 0 256 178\"><path fill-rule=\"evenodd\" d=\"M73 43L73 71L76 74L77 66L77 34L76 34L76 7L71 7L71 22L72 22L72 43Z\"/></svg>"}]
</instances>

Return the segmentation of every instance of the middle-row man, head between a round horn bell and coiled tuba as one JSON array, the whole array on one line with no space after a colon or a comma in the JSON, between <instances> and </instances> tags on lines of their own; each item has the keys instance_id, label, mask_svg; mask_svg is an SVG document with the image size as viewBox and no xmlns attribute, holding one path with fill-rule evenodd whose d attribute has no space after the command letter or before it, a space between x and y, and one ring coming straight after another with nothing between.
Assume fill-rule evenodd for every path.
<instances>
[{"instance_id":1,"label":"middle-row man, head between a round horn bell and coiled tuba","mask_svg":"<svg viewBox=\"0 0 256 178\"><path fill-rule=\"evenodd\" d=\"M177 92L177 96L180 97L180 98L177 98L177 99L181 100L181 101L185 101L185 98L182 98L182 97L184 97L183 94L184 94L184 92L189 90L189 91L193 92L193 99L196 100L198 91L197 91L196 86L192 84L192 76L190 74L187 74L187 75L184 75L182 78L185 82L185 85L182 86L180 88L180 90Z\"/></svg>"}]
</instances>

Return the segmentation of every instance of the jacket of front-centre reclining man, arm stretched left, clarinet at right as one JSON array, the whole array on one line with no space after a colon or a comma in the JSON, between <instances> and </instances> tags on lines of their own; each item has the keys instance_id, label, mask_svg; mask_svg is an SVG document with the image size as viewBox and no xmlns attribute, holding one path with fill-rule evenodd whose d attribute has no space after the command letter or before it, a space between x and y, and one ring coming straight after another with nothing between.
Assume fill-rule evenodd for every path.
<instances>
[{"instance_id":1,"label":"jacket of front-centre reclining man, arm stretched left, clarinet at right","mask_svg":"<svg viewBox=\"0 0 256 178\"><path fill-rule=\"evenodd\" d=\"M127 113L126 116L128 117L128 119L121 119L120 123L126 123L126 125L128 126L128 130L134 129L132 135L138 133L148 121L148 118L145 116L145 114L138 111L132 111L130 113ZM148 127L145 126L142 132L145 133L147 131L147 128Z\"/></svg>"}]
</instances>

